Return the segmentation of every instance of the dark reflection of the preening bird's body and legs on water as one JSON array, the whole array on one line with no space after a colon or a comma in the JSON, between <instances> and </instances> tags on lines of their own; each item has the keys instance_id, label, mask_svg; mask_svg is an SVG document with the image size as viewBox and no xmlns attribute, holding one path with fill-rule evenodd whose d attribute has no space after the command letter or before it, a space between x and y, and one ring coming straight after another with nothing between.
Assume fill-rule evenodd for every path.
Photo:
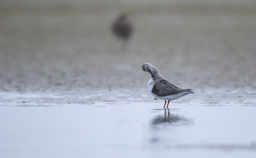
<instances>
[{"instance_id":1,"label":"dark reflection of the preening bird's body and legs on water","mask_svg":"<svg viewBox=\"0 0 256 158\"><path fill-rule=\"evenodd\" d=\"M165 108L165 115L158 115L152 119L152 125L189 125L192 121L180 115L170 114L169 108Z\"/></svg>"}]
</instances>

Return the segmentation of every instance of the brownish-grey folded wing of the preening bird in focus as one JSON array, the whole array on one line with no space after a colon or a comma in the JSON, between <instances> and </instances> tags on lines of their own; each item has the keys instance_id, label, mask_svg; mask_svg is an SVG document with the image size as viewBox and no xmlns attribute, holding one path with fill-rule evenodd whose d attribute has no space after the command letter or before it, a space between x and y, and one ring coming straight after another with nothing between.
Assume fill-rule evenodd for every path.
<instances>
[{"instance_id":1,"label":"brownish-grey folded wing of the preening bird in focus","mask_svg":"<svg viewBox=\"0 0 256 158\"><path fill-rule=\"evenodd\" d=\"M178 86L175 86L174 84L170 83L165 79L154 81L154 86L152 88L152 93L161 97L177 94L183 91L186 91L186 90L181 89Z\"/></svg>"}]
</instances>

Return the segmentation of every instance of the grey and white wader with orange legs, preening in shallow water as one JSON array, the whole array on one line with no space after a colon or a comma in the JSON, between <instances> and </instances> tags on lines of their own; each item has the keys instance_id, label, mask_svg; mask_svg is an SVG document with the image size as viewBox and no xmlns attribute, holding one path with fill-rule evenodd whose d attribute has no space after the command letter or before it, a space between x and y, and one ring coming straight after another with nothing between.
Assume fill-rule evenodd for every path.
<instances>
[{"instance_id":1,"label":"grey and white wader with orange legs, preening in shallow water","mask_svg":"<svg viewBox=\"0 0 256 158\"><path fill-rule=\"evenodd\" d=\"M168 100L167 108L170 101L194 93L191 89L183 89L169 82L160 74L158 69L150 63L144 63L142 69L144 72L148 72L151 75L148 90L155 98L165 100L165 104L166 100Z\"/></svg>"}]
</instances>

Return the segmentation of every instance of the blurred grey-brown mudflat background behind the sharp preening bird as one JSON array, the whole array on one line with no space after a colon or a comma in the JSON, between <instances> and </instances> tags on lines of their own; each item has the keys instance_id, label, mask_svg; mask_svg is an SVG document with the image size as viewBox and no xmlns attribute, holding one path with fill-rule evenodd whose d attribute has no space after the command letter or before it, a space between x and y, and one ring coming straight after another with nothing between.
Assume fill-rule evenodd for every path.
<instances>
[{"instance_id":1,"label":"blurred grey-brown mudflat background behind the sharp preening bird","mask_svg":"<svg viewBox=\"0 0 256 158\"><path fill-rule=\"evenodd\" d=\"M120 14L133 26L126 40L111 32ZM255 60L255 0L0 3L3 92L149 97L145 62L197 93L248 92L256 89Z\"/></svg>"}]
</instances>

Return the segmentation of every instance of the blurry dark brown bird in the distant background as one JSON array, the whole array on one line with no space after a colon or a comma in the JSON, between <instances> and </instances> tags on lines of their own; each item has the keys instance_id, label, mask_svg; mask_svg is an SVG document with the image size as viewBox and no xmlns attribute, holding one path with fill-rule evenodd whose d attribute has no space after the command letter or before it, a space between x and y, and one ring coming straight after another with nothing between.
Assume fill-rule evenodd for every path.
<instances>
[{"instance_id":1,"label":"blurry dark brown bird in the distant background","mask_svg":"<svg viewBox=\"0 0 256 158\"><path fill-rule=\"evenodd\" d=\"M132 22L129 21L127 14L120 14L113 22L111 29L117 37L128 39L132 35L133 25Z\"/></svg>"}]
</instances>

